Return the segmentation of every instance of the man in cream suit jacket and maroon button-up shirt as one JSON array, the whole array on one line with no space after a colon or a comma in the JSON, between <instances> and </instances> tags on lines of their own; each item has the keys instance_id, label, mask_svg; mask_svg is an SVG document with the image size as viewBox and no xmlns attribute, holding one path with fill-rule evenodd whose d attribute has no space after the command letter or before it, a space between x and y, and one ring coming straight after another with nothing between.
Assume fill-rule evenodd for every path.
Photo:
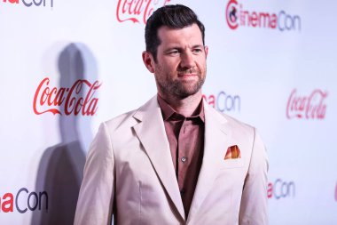
<instances>
[{"instance_id":1,"label":"man in cream suit jacket and maroon button-up shirt","mask_svg":"<svg viewBox=\"0 0 337 225\"><path fill-rule=\"evenodd\" d=\"M103 123L75 224L267 224L267 159L255 128L202 100L208 47L184 5L147 20L145 67L158 94Z\"/></svg>"}]
</instances>

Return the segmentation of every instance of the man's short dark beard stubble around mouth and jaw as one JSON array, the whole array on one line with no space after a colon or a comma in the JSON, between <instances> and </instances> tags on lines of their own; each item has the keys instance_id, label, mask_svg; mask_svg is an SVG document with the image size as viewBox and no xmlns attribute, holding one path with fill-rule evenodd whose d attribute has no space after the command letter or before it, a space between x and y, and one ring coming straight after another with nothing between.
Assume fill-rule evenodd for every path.
<instances>
[{"instance_id":1,"label":"man's short dark beard stubble around mouth and jaw","mask_svg":"<svg viewBox=\"0 0 337 225\"><path fill-rule=\"evenodd\" d=\"M193 68L178 71L178 74L184 73L195 73L198 77L198 80L180 80L179 78L172 79L171 74L163 72L161 67L157 67L157 75L155 76L155 80L158 88L165 95L169 95L175 97L177 99L184 99L188 96L191 96L200 91L202 84L205 82L206 78L206 68L203 71L203 74L200 70L195 70Z\"/></svg>"}]
</instances>

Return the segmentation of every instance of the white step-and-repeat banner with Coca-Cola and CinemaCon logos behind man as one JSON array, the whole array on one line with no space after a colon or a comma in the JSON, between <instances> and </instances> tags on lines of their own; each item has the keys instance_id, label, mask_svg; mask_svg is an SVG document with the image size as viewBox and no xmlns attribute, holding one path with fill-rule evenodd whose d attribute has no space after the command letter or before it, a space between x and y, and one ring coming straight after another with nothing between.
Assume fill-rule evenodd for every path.
<instances>
[{"instance_id":1,"label":"white step-and-repeat banner with Coca-Cola and CinemaCon logos behind man","mask_svg":"<svg viewBox=\"0 0 337 225\"><path fill-rule=\"evenodd\" d=\"M271 225L337 224L337 2L0 1L0 224L72 224L98 125L156 93L145 20L206 26L204 98L258 128Z\"/></svg>"}]
</instances>

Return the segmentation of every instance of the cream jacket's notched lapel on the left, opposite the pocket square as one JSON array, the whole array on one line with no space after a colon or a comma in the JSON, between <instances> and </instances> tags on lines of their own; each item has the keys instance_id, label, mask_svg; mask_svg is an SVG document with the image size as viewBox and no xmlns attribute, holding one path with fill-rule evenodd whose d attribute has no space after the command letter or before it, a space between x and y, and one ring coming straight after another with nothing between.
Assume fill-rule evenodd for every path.
<instances>
[{"instance_id":1,"label":"cream jacket's notched lapel on the left, opposite the pocket square","mask_svg":"<svg viewBox=\"0 0 337 225\"><path fill-rule=\"evenodd\" d=\"M176 181L175 168L169 150L169 141L158 105L157 96L139 108L134 117L140 121L134 126L147 156L150 158L161 184L166 189L176 210L184 219L184 205Z\"/></svg>"}]
</instances>

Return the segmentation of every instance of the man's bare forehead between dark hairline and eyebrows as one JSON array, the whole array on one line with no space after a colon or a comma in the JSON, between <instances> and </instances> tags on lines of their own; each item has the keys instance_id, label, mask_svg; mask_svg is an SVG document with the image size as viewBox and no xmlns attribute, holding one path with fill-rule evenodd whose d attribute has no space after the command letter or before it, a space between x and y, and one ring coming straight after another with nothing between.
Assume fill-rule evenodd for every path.
<instances>
[{"instance_id":1,"label":"man's bare forehead between dark hairline and eyebrows","mask_svg":"<svg viewBox=\"0 0 337 225\"><path fill-rule=\"evenodd\" d=\"M201 44L202 35L197 24L184 28L169 28L163 26L158 29L158 37L161 40L160 45L170 44Z\"/></svg>"}]
</instances>

